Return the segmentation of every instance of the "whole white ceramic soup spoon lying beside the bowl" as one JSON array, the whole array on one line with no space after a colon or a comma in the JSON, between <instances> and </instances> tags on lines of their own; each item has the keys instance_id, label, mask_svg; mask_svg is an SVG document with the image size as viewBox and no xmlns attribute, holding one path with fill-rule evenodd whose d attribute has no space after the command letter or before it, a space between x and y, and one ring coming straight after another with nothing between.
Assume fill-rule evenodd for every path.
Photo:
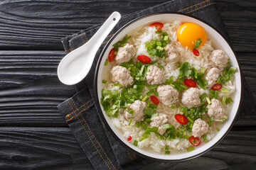
<instances>
[{"instance_id":1,"label":"whole white ceramic soup spoon lying beside the bowl","mask_svg":"<svg viewBox=\"0 0 256 170\"><path fill-rule=\"evenodd\" d=\"M84 79L103 40L120 20L121 15L113 12L90 40L73 52L68 53L58 65L58 78L63 84L73 85Z\"/></svg>"}]
</instances>

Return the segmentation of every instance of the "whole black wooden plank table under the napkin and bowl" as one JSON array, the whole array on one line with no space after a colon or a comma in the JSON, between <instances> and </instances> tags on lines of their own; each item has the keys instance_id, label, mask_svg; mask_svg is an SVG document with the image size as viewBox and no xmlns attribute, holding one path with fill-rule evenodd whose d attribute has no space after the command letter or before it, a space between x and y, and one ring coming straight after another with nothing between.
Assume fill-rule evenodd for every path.
<instances>
[{"instance_id":1,"label":"whole black wooden plank table under the napkin and bowl","mask_svg":"<svg viewBox=\"0 0 256 170\"><path fill-rule=\"evenodd\" d=\"M75 94L58 80L60 39L166 0L0 2L0 169L92 169L56 106ZM91 11L95 4L102 8ZM41 6L44 8L41 8ZM139 5L138 5L139 4ZM216 0L242 71L256 98L255 0ZM129 10L127 10L129 6ZM93 13L88 17L87 13ZM188 162L152 162L144 169L255 169L256 113L239 115L210 152Z\"/></svg>"}]
</instances>

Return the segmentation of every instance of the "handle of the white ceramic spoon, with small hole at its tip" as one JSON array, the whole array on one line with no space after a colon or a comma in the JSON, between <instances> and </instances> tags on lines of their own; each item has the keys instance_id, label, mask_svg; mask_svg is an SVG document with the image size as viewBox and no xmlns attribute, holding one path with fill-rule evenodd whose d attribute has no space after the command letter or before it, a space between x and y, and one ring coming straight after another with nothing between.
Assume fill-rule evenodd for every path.
<instances>
[{"instance_id":1,"label":"handle of the white ceramic spoon, with small hole at its tip","mask_svg":"<svg viewBox=\"0 0 256 170\"><path fill-rule=\"evenodd\" d=\"M102 42L105 40L107 35L109 35L110 31L114 28L114 26L118 23L121 18L121 14L117 11L113 12L109 18L103 23L97 33L90 38L87 43L91 43L94 45L93 48L99 49ZM97 52L97 50L95 50Z\"/></svg>"}]
</instances>

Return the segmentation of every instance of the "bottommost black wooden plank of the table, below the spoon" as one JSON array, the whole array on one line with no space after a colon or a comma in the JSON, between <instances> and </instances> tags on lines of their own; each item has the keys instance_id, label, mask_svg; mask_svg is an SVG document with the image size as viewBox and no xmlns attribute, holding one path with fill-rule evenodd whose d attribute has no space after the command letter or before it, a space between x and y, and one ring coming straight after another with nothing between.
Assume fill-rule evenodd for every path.
<instances>
[{"instance_id":1,"label":"bottommost black wooden plank of the table, below the spoon","mask_svg":"<svg viewBox=\"0 0 256 170\"><path fill-rule=\"evenodd\" d=\"M255 165L256 131L231 131L214 149L187 162L151 162L144 169L228 169ZM0 128L1 169L92 169L69 128Z\"/></svg>"}]
</instances>

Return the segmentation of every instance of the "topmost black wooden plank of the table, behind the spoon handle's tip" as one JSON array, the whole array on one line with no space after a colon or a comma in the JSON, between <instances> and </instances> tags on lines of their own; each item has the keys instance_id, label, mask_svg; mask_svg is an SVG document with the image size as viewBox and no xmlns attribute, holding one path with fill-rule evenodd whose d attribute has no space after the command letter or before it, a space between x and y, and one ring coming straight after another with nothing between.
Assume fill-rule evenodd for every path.
<instances>
[{"instance_id":1,"label":"topmost black wooden plank of the table, behind the spoon handle's tip","mask_svg":"<svg viewBox=\"0 0 256 170\"><path fill-rule=\"evenodd\" d=\"M63 50L61 38L102 23L112 11L125 15L164 1L148 0L139 6L137 1L111 1L112 8L106 8L110 1L101 0L2 2L0 50ZM235 50L256 52L254 1L215 2Z\"/></svg>"}]
</instances>

